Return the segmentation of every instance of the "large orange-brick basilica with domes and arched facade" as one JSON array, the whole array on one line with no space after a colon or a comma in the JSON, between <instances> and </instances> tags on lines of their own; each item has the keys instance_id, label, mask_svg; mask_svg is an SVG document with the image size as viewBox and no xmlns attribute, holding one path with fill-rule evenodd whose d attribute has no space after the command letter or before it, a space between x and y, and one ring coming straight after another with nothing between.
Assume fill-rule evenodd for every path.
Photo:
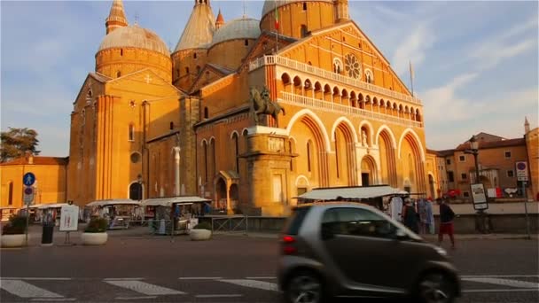
<instances>
[{"instance_id":1,"label":"large orange-brick basilica with domes and arched facade","mask_svg":"<svg viewBox=\"0 0 539 303\"><path fill-rule=\"evenodd\" d=\"M282 215L321 187L439 195L423 105L348 0L266 0L238 19L192 1L169 49L113 0L74 96L69 157L43 168L62 175L47 199L190 195L228 214Z\"/></svg>"}]
</instances>

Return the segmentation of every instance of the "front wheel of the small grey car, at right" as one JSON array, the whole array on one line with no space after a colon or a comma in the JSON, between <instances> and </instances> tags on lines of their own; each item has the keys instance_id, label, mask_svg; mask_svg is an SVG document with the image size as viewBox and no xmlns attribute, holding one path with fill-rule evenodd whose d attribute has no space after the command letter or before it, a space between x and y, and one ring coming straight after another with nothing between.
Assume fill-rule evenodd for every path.
<instances>
[{"instance_id":1,"label":"front wheel of the small grey car, at right","mask_svg":"<svg viewBox=\"0 0 539 303\"><path fill-rule=\"evenodd\" d=\"M423 303L451 303L456 297L455 283L441 273L427 274L419 281L417 296Z\"/></svg>"}]
</instances>

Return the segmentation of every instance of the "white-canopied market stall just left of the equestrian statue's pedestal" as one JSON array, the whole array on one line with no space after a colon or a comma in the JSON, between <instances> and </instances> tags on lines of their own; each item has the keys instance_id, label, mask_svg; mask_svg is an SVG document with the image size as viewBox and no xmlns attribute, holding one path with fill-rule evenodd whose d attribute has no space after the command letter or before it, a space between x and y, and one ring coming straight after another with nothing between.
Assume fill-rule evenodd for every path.
<instances>
[{"instance_id":1,"label":"white-canopied market stall just left of the equestrian statue's pedestal","mask_svg":"<svg viewBox=\"0 0 539 303\"><path fill-rule=\"evenodd\" d=\"M198 217L203 214L205 203L211 203L211 200L197 196L179 196L148 198L142 205L145 206L146 217L155 222L151 225L155 233L188 234L199 223Z\"/></svg>"}]
</instances>

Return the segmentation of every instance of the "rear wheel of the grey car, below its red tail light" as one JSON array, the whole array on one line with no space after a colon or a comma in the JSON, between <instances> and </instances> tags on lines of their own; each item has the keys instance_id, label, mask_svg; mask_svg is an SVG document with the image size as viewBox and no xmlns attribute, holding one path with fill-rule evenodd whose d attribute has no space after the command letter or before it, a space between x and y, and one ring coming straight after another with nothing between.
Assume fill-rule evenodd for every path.
<instances>
[{"instance_id":1,"label":"rear wheel of the grey car, below its red tail light","mask_svg":"<svg viewBox=\"0 0 539 303\"><path fill-rule=\"evenodd\" d=\"M323 285L320 278L309 271L293 273L285 285L285 301L293 303L320 303Z\"/></svg>"}]
</instances>

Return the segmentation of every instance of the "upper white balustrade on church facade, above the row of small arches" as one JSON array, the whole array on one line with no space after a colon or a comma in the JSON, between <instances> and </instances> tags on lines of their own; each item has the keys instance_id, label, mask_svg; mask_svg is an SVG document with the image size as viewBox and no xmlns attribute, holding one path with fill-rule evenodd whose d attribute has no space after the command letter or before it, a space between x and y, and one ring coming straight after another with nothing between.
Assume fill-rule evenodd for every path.
<instances>
[{"instance_id":1,"label":"upper white balustrade on church facade, above the row of small arches","mask_svg":"<svg viewBox=\"0 0 539 303\"><path fill-rule=\"evenodd\" d=\"M289 58L285 58L281 56L271 55L271 56L263 56L261 58L254 59L253 61L249 63L249 72L252 72L258 68L261 68L262 66L274 66L274 65L285 66L285 67L292 68L294 70L297 70L303 73L313 74L324 79L331 79L334 82L340 82L343 84L354 86L359 89L364 89L367 91L371 91L373 93L384 95L385 97L395 98L398 100L407 101L413 104L421 105L421 100L417 97L410 97L408 95L404 95L402 93L396 92L391 89L380 88L379 86L372 85L370 83L366 83L361 80L350 78L342 74L336 74L331 71L327 71L325 69L318 68L315 66L309 66L308 64L304 64L299 61L295 61L293 59L289 59Z\"/></svg>"}]
</instances>

